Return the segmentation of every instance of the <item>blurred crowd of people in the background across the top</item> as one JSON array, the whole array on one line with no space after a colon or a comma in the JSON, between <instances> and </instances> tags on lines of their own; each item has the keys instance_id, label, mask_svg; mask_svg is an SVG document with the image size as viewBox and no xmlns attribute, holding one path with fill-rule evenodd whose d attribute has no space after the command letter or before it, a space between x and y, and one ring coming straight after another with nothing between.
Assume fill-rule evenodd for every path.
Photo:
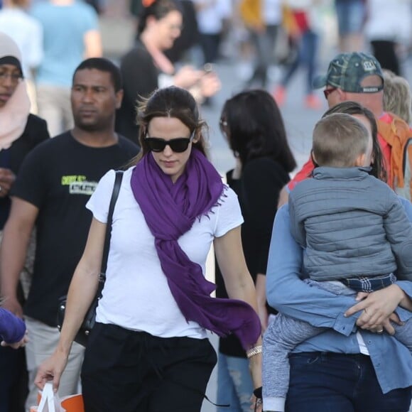
<instances>
[{"instance_id":1,"label":"blurred crowd of people in the background across the top","mask_svg":"<svg viewBox=\"0 0 412 412\"><path fill-rule=\"evenodd\" d=\"M213 103L212 96L219 86L215 82L207 90L201 90L204 81L199 87L196 79L200 72L209 75L213 65L224 58L238 61L235 74L244 82L244 88L264 88L280 106L287 101L291 79L298 70L305 70L303 106L320 109L320 99L313 92L312 83L319 70L323 45L342 52L368 50L382 68L396 75L404 75L403 61L411 53L410 0L396 0L388 10L384 0L179 0L177 3L181 22L173 23L174 33L164 33L171 36L170 45L153 48L152 39L148 48L147 35L142 38L142 31L147 16L153 13L153 1L129 1L129 16L136 22L136 45L144 45L155 65L160 65L166 75L183 66L188 69L189 65L197 70L197 77L193 72L183 71L184 76L175 85L196 89L195 98L205 105ZM68 107L70 72L79 56L102 55L98 18L114 8L116 5L107 0L3 1L1 30L24 50L23 70L32 112L48 120L52 135L72 126ZM72 16L80 18L76 25ZM65 53L60 44L66 45ZM133 59L129 55L126 60ZM35 72L36 88L32 85ZM182 81L182 77L188 81ZM162 76L161 85L166 84L170 84L170 79ZM152 85L153 80L149 85L129 87L133 93L138 90L144 94ZM129 121L131 111L127 100L121 116ZM124 134L132 132L126 131L122 121L118 122L116 128Z\"/></svg>"}]
</instances>

